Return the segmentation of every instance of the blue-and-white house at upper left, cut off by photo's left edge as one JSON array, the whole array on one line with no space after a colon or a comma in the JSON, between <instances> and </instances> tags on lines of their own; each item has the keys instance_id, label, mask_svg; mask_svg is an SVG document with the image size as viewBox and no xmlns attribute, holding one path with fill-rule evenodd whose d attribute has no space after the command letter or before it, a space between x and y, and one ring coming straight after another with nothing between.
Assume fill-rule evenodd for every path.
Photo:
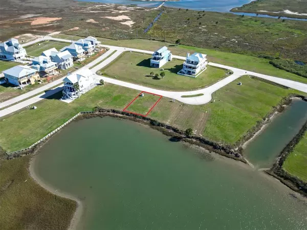
<instances>
[{"instance_id":1,"label":"blue-and-white house at upper left, cut off by photo's left edge","mask_svg":"<svg viewBox=\"0 0 307 230\"><path fill-rule=\"evenodd\" d=\"M18 42L17 39L11 38L0 43L0 58L7 60L25 59L27 51Z\"/></svg>"}]
</instances>

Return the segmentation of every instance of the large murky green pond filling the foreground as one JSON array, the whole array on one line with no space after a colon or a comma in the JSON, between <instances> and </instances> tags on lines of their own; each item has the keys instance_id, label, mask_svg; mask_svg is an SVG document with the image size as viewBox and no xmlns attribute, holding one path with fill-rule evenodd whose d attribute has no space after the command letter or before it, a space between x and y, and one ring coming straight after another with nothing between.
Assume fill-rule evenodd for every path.
<instances>
[{"instance_id":1,"label":"large murky green pond filling the foreground","mask_svg":"<svg viewBox=\"0 0 307 230\"><path fill-rule=\"evenodd\" d=\"M82 201L78 229L307 229L306 201L276 179L131 121L73 123L32 170Z\"/></svg>"}]
</instances>

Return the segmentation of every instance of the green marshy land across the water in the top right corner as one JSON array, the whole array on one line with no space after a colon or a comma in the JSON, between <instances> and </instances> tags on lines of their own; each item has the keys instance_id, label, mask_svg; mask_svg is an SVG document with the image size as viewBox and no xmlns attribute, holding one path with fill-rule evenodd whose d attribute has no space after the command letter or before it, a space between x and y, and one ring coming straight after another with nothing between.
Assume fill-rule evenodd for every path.
<instances>
[{"instance_id":1,"label":"green marshy land across the water in the top right corner","mask_svg":"<svg viewBox=\"0 0 307 230\"><path fill-rule=\"evenodd\" d=\"M261 10L269 11L269 13L261 12ZM286 16L286 17L295 17L295 18L307 18L307 16L282 13L283 10L306 13L307 4L302 0L291 0L291 3L289 3L289 1L287 0L257 0L249 4L245 4L242 7L234 8L231 11L260 13L260 14L262 13L262 14L269 14L275 16ZM274 13L274 12L279 12L279 13Z\"/></svg>"}]
</instances>

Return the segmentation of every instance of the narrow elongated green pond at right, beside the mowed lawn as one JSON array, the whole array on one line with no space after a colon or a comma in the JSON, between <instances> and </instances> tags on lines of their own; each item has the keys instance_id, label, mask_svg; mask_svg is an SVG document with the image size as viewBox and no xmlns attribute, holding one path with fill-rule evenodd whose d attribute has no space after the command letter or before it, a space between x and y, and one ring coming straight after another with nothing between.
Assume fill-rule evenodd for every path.
<instances>
[{"instance_id":1,"label":"narrow elongated green pond at right, beside the mowed lawn","mask_svg":"<svg viewBox=\"0 0 307 230\"><path fill-rule=\"evenodd\" d=\"M251 141L244 155L257 168L270 168L278 154L298 133L307 120L307 102L294 99Z\"/></svg>"}]
</instances>

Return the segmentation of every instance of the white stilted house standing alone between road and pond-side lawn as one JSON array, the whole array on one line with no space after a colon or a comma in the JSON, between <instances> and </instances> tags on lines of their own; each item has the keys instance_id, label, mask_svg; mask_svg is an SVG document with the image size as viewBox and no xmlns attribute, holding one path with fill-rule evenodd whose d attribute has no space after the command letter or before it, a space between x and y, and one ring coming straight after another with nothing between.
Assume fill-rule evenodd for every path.
<instances>
[{"instance_id":1,"label":"white stilted house standing alone between road and pond-side lawn","mask_svg":"<svg viewBox=\"0 0 307 230\"><path fill-rule=\"evenodd\" d=\"M62 99L74 100L94 88L96 81L93 75L88 68L84 68L65 77L63 79L64 89L62 91Z\"/></svg>"}]
</instances>

